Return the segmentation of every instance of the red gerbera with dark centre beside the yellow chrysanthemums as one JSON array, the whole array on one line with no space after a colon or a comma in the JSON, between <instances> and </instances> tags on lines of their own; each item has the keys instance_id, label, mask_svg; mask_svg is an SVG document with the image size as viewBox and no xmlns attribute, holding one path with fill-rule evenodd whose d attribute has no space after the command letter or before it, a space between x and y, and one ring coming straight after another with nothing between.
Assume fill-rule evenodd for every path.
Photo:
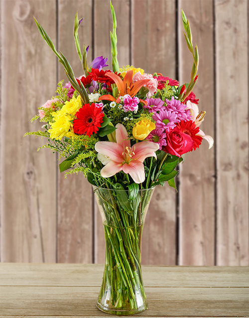
<instances>
[{"instance_id":1,"label":"red gerbera with dark centre beside the yellow chrysanthemums","mask_svg":"<svg viewBox=\"0 0 249 318\"><path fill-rule=\"evenodd\" d=\"M85 104L76 113L74 120L74 132L79 135L93 135L97 133L103 123L104 113L101 107L97 107L94 103L90 106Z\"/></svg>"}]
</instances>

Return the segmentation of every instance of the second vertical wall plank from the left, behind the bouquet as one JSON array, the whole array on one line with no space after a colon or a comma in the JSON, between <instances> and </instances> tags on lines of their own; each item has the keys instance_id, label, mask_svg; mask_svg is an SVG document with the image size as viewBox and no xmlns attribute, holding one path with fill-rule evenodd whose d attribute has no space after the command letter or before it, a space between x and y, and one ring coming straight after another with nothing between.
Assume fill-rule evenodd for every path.
<instances>
[{"instance_id":1,"label":"second vertical wall plank from the left, behind the bouquet","mask_svg":"<svg viewBox=\"0 0 249 318\"><path fill-rule=\"evenodd\" d=\"M79 38L83 44L90 45L88 63L92 62L92 1L59 0L58 1L58 46L67 57L75 76L84 74L81 61L76 51L73 27L74 17L78 11L79 19L84 17ZM59 81L68 82L64 69L60 65ZM93 193L92 186L83 173L68 175L58 169L58 249L59 263L93 262Z\"/></svg>"}]
</instances>

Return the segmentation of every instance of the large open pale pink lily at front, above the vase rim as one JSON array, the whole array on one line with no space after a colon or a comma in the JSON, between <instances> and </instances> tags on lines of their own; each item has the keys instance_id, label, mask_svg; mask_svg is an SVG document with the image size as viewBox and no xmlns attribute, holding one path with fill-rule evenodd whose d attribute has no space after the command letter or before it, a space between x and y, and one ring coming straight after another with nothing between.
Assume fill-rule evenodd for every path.
<instances>
[{"instance_id":1,"label":"large open pale pink lily at front, above the vase rim","mask_svg":"<svg viewBox=\"0 0 249 318\"><path fill-rule=\"evenodd\" d=\"M98 142L95 145L98 153L111 159L100 173L104 178L108 178L123 170L135 183L141 183L145 180L143 161L147 157L156 158L155 151L159 149L159 145L152 142L139 142L130 147L125 127L117 124L116 128L117 143Z\"/></svg>"}]
</instances>

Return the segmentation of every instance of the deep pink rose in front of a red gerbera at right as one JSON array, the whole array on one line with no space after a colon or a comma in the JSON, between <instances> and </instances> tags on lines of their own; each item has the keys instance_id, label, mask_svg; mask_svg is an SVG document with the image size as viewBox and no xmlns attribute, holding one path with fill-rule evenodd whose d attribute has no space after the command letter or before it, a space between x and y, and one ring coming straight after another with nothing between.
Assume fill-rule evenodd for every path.
<instances>
[{"instance_id":1,"label":"deep pink rose in front of a red gerbera at right","mask_svg":"<svg viewBox=\"0 0 249 318\"><path fill-rule=\"evenodd\" d=\"M175 127L167 133L167 146L163 147L162 150L170 155L181 157L181 155L192 151L193 148L194 141L191 136Z\"/></svg>"}]
</instances>

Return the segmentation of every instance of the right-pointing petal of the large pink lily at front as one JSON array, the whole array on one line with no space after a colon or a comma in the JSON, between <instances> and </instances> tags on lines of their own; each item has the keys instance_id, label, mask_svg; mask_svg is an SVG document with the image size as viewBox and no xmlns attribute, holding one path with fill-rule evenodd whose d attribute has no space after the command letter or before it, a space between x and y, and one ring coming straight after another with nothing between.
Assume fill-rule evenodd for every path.
<instances>
[{"instance_id":1,"label":"right-pointing petal of the large pink lily at front","mask_svg":"<svg viewBox=\"0 0 249 318\"><path fill-rule=\"evenodd\" d=\"M155 157L156 154L154 153L159 149L159 145L152 142L140 142L131 147L131 152L134 152L135 155L132 159L137 159L140 162L143 162L145 158L148 157ZM150 151L148 153L148 150Z\"/></svg>"}]
</instances>

